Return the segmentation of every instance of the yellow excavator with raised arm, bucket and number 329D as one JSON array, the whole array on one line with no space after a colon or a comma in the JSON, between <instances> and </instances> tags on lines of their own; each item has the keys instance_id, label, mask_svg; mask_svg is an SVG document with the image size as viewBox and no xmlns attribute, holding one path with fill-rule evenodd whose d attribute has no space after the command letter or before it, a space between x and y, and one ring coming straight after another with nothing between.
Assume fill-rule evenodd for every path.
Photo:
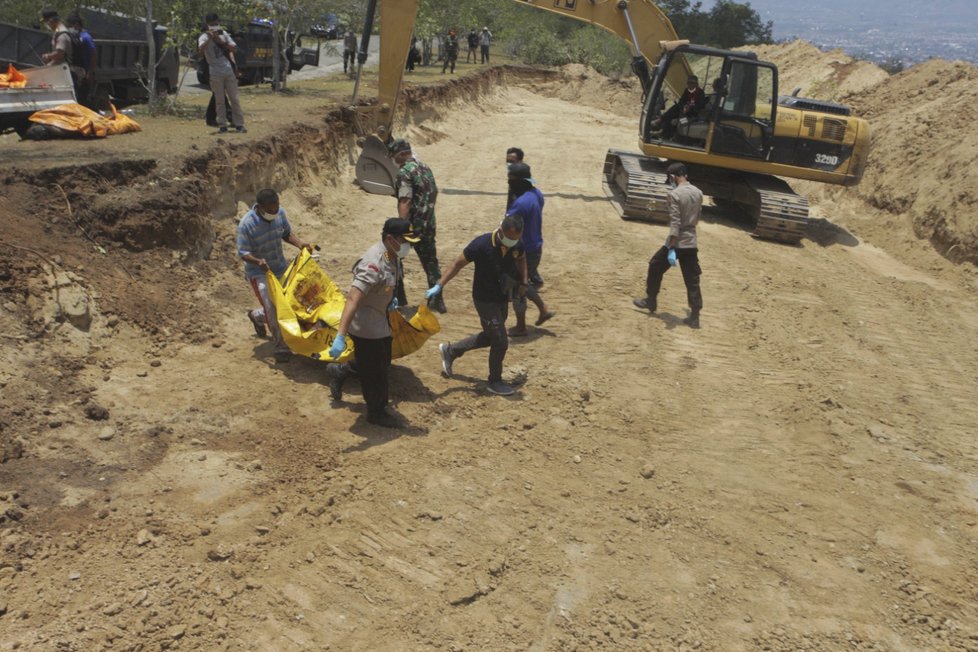
<instances>
[{"instance_id":1,"label":"yellow excavator with raised arm, bucket and number 329D","mask_svg":"<svg viewBox=\"0 0 978 652\"><path fill-rule=\"evenodd\" d=\"M355 107L362 151L357 180L371 193L393 194L397 170L387 156L391 125L411 45L419 0L381 2L379 95ZM844 105L778 95L778 69L751 52L679 40L651 0L514 0L592 23L628 42L642 83L642 153L609 150L604 181L625 219L668 222L665 169L686 163L690 178L718 206L739 207L760 238L797 243L808 227L808 202L779 177L852 186L869 154L869 125ZM373 29L368 3L358 53L357 87ZM683 89L695 76L705 102L677 116Z\"/></svg>"}]
</instances>

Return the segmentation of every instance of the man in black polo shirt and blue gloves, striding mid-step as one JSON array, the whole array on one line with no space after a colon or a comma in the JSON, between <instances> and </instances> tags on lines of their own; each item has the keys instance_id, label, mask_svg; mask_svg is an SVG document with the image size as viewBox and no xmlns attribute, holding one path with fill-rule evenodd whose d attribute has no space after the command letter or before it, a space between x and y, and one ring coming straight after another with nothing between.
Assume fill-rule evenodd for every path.
<instances>
[{"instance_id":1,"label":"man in black polo shirt and blue gloves, striding mid-step","mask_svg":"<svg viewBox=\"0 0 978 652\"><path fill-rule=\"evenodd\" d=\"M452 362L467 351L489 347L489 384L492 394L509 396L515 390L503 382L503 359L509 347L506 317L514 293L526 295L528 287L526 258L523 256L523 219L519 215L503 218L499 228L483 233L470 242L445 274L430 290L428 298L436 296L458 272L475 263L472 275L472 302L479 313L482 331L465 339L438 346L442 370L452 376Z\"/></svg>"}]
</instances>

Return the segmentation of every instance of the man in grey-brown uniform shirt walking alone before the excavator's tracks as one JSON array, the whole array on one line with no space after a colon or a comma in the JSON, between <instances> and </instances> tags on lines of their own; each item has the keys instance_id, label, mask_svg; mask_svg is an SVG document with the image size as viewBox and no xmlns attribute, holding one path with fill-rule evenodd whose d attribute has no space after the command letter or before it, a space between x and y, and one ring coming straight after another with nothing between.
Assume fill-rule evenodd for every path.
<instances>
[{"instance_id":1,"label":"man in grey-brown uniform shirt walking alone before the excavator's tracks","mask_svg":"<svg viewBox=\"0 0 978 652\"><path fill-rule=\"evenodd\" d=\"M667 203L669 205L669 235L666 244L660 247L649 260L649 271L645 278L645 296L633 299L637 308L655 312L656 298L662 277L670 267L679 263L686 283L686 300L689 303L689 317L683 323L690 328L700 327L700 310L703 308L703 294L700 291L700 261L696 244L696 223L703 210L703 193L689 182L686 166L673 163L666 168L668 183L672 186Z\"/></svg>"}]
</instances>

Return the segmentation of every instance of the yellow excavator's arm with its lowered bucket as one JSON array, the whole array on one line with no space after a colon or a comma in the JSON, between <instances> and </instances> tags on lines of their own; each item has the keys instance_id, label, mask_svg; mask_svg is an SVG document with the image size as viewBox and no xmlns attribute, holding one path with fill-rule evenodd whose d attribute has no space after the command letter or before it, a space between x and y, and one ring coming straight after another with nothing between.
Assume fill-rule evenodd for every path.
<instances>
[{"instance_id":1,"label":"yellow excavator's arm with its lowered bucket","mask_svg":"<svg viewBox=\"0 0 978 652\"><path fill-rule=\"evenodd\" d=\"M513 0L521 5L549 11L575 20L591 23L617 35L632 48L632 69L648 91L650 65L654 65L666 51L679 41L669 18L652 0ZM391 137L391 125L397 109L397 100L404 78L404 64L411 47L411 35L417 16L419 0L388 0L381 3L380 73L378 97L375 104L356 106L357 89L354 90L354 107L363 150L357 161L357 179L364 190L389 195L393 193L397 170L387 158L386 143ZM376 0L370 0L360 52L359 68L367 59L367 44L373 29ZM665 83L682 92L686 76L679 67L670 68Z\"/></svg>"}]
</instances>

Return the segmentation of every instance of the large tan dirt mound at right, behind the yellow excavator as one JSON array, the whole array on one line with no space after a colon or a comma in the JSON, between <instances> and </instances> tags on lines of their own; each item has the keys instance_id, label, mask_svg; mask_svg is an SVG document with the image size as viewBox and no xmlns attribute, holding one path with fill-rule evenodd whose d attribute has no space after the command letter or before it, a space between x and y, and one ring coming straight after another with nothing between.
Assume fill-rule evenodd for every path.
<instances>
[{"instance_id":1,"label":"large tan dirt mound at right, behind the yellow excavator","mask_svg":"<svg viewBox=\"0 0 978 652\"><path fill-rule=\"evenodd\" d=\"M756 51L778 64L783 93L800 86L802 95L844 102L869 121L872 150L862 183L828 195L851 194L904 216L942 255L978 264L978 68L935 59L891 77L801 41ZM902 229L903 222L887 219L883 228Z\"/></svg>"}]
</instances>

